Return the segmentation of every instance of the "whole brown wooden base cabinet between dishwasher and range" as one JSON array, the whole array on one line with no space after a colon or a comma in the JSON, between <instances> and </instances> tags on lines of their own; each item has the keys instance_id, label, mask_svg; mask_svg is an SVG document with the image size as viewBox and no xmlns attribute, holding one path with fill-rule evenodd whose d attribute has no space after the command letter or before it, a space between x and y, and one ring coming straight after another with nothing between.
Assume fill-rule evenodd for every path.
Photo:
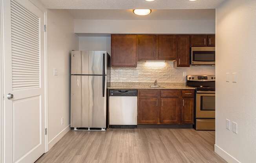
<instances>
[{"instance_id":1,"label":"whole brown wooden base cabinet between dishwasher and range","mask_svg":"<svg viewBox=\"0 0 256 163\"><path fill-rule=\"evenodd\" d=\"M194 90L138 90L138 124L194 124Z\"/></svg>"}]
</instances>

